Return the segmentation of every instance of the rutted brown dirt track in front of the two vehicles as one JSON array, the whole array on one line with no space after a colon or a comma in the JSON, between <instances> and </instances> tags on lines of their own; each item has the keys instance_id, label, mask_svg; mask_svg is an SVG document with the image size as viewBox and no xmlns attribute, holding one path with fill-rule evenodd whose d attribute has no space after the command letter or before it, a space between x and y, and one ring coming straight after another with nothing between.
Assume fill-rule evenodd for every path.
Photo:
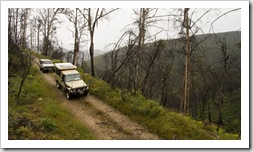
<instances>
[{"instance_id":1,"label":"rutted brown dirt track in front of the two vehicles","mask_svg":"<svg viewBox=\"0 0 253 152\"><path fill-rule=\"evenodd\" d=\"M37 65L38 58L35 58ZM83 124L88 126L97 139L104 140L155 140L157 135L147 132L140 124L105 104L93 95L68 100L62 90L55 85L54 74L42 73L44 79L53 87L56 95L71 113Z\"/></svg>"}]
</instances>

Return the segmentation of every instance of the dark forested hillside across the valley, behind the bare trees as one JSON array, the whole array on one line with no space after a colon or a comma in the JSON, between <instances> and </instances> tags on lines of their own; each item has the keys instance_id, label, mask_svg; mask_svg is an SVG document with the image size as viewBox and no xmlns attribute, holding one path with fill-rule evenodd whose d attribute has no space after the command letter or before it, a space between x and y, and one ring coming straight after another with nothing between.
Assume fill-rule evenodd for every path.
<instances>
[{"instance_id":1,"label":"dark forested hillside across the valley, behind the bare trees","mask_svg":"<svg viewBox=\"0 0 253 152\"><path fill-rule=\"evenodd\" d=\"M240 32L191 37L190 116L216 123L229 132L240 132L240 44ZM108 52L95 58L98 76L113 87L126 89L133 95L141 92L146 98L180 113L184 45L184 38L146 44L138 63L137 46ZM134 75L136 64L140 69L138 81Z\"/></svg>"}]
</instances>

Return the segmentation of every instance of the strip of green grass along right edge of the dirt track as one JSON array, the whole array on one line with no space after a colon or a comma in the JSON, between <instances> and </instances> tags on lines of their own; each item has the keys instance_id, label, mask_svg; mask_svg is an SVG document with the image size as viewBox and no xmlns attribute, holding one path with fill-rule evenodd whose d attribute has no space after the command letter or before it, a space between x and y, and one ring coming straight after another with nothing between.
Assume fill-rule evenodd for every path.
<instances>
[{"instance_id":1,"label":"strip of green grass along right edge of the dirt track","mask_svg":"<svg viewBox=\"0 0 253 152\"><path fill-rule=\"evenodd\" d=\"M82 73L82 70L80 72ZM158 102L147 100L141 94L131 96L126 91L112 89L104 81L95 79L89 74L82 74L82 78L90 85L91 94L146 126L150 132L158 134L163 139L238 139L238 135L228 134L222 129L217 132L215 125L206 125L181 114L169 112Z\"/></svg>"}]
</instances>

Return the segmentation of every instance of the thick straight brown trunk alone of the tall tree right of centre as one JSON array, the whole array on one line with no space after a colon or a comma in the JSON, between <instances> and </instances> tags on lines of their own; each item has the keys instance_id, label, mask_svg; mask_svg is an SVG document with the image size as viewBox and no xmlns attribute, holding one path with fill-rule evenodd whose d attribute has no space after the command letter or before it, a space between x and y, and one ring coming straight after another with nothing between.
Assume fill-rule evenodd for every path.
<instances>
[{"instance_id":1,"label":"thick straight brown trunk alone of the tall tree right of centre","mask_svg":"<svg viewBox=\"0 0 253 152\"><path fill-rule=\"evenodd\" d=\"M188 116L190 114L190 36L189 36L189 18L188 18L189 8L184 9L184 26L186 29L186 46L185 46L185 72L184 72L184 94L183 94L183 115Z\"/></svg>"}]
</instances>

